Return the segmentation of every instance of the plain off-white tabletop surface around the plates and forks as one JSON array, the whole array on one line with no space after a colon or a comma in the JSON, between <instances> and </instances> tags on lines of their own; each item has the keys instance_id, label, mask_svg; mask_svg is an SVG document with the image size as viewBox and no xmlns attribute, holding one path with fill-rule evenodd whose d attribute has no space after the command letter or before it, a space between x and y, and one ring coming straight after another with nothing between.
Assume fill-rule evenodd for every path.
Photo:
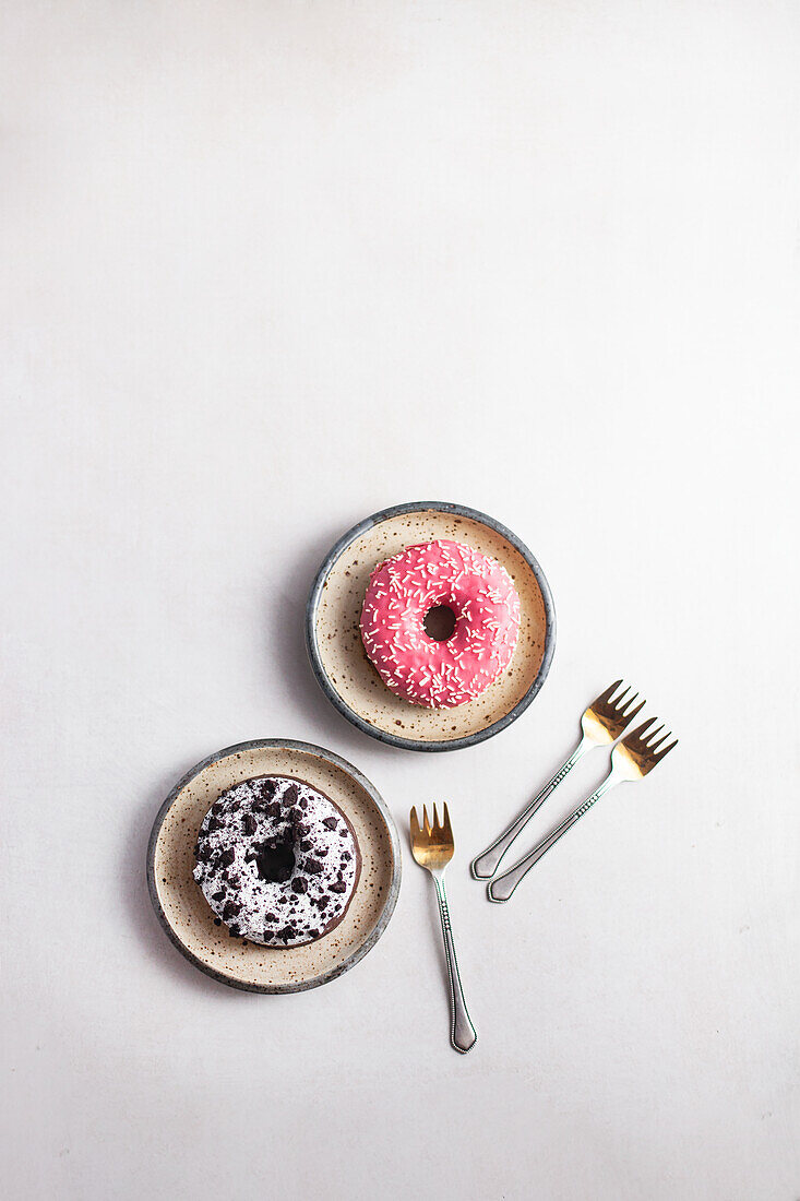
<instances>
[{"instance_id":1,"label":"plain off-white tabletop surface around the plates and forks","mask_svg":"<svg viewBox=\"0 0 800 1201\"><path fill-rule=\"evenodd\" d=\"M1 44L5 1194L795 1201L798 6L10 0ZM303 646L334 538L418 498L559 613L447 755ZM468 859L621 674L679 749L489 906ZM258 736L404 841L449 799L467 1058L410 855L316 992L167 943L153 817Z\"/></svg>"}]
</instances>

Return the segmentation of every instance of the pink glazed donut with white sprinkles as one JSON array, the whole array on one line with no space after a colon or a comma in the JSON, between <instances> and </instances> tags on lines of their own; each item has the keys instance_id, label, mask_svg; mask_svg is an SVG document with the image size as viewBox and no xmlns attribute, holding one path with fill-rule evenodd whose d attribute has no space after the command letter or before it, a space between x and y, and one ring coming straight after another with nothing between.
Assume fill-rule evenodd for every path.
<instances>
[{"instance_id":1,"label":"pink glazed donut with white sprinkles","mask_svg":"<svg viewBox=\"0 0 800 1201\"><path fill-rule=\"evenodd\" d=\"M455 617L449 638L425 629L431 609ZM387 688L413 705L452 709L479 697L511 663L520 605L508 572L461 542L406 546L375 568L362 639Z\"/></svg>"}]
</instances>

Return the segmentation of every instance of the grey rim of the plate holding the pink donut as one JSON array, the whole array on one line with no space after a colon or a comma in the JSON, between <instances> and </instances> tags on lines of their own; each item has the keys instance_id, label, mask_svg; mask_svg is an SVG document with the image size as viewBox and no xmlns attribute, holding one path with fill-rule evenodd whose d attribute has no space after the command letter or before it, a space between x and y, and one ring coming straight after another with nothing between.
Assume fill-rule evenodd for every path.
<instances>
[{"instance_id":1,"label":"grey rim of the plate holding the pink donut","mask_svg":"<svg viewBox=\"0 0 800 1201\"><path fill-rule=\"evenodd\" d=\"M328 673L322 663L322 656L320 653L320 645L316 633L316 615L320 608L320 598L322 596L322 590L324 587L326 580L330 574L330 570L342 554L342 551L359 538L372 526L378 525L381 521L386 521L389 518L404 516L406 513L422 513L425 509L437 509L440 513L452 513L456 516L464 516L472 521L477 521L480 525L488 526L498 533L506 542L511 543L512 546L523 556L525 562L529 564L533 575L536 576L536 582L542 592L542 599L544 602L544 619L545 619L545 632L544 632L544 653L542 656L542 663L539 670L536 674L533 683L527 689L524 697L517 701L517 704L507 713L505 713L491 725L486 725L483 730L476 730L473 734L465 734L462 737L458 739L441 739L435 741L424 741L422 739L408 739L402 737L399 734L392 734L388 730L382 730L377 725L372 725L370 722L365 721L356 710L351 709L350 705L339 695L336 689L330 683L328 679ZM309 659L311 661L311 668L316 676L317 683L322 688L323 693L332 703L332 705L339 710L342 717L346 717L357 729L363 734L369 734L370 737L377 739L378 742L384 742L388 746L399 747L402 751L460 751L464 747L476 746L478 742L485 742L486 739L494 737L505 730L507 727L515 722L520 717L529 705L535 700L542 685L548 677L550 670L550 664L553 662L553 653L555 651L555 634L556 634L556 616L555 605L553 603L553 592L550 591L550 585L548 579L542 570L542 567L530 550L529 546L518 538L513 530L505 526L501 521L495 518L489 516L488 513L482 513L479 509L472 509L466 504L456 504L452 501L411 501L405 504L393 504L387 509L380 509L377 513L372 513L370 516L364 518L357 525L352 526L346 533L334 543L332 549L328 551L323 558L317 573L314 578L314 584L311 585L311 592L309 593L309 599L305 607L305 645L309 653Z\"/></svg>"}]
</instances>

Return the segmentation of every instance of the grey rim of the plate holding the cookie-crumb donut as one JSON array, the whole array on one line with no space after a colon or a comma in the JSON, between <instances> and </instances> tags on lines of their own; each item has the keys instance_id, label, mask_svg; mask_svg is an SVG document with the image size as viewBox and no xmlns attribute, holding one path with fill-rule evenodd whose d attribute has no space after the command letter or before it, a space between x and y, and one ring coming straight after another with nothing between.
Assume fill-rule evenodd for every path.
<instances>
[{"instance_id":1,"label":"grey rim of the plate holding the cookie-crumb donut","mask_svg":"<svg viewBox=\"0 0 800 1201\"><path fill-rule=\"evenodd\" d=\"M392 848L392 880L389 882L389 888L387 890L387 897L381 910L381 915L376 921L375 926L364 939L364 942L350 955L344 963L340 963L335 968L330 968L328 972L322 972L320 975L312 976L310 980L295 981L292 984L280 984L280 985L262 985L251 984L246 980L234 980L226 975L223 972L219 972L216 968L211 967L210 963L205 963L204 960L199 958L191 951L186 944L180 939L177 932L173 930L169 919L167 918L161 900L159 897L159 889L155 878L155 853L161 830L167 817L167 813L174 805L178 795L184 790L186 784L189 784L196 776L199 776L202 771L210 767L213 764L219 763L221 759L227 759L232 754L240 754L246 751L276 748L287 751L299 751L304 754L311 754L315 758L323 759L327 763L334 764L336 767L342 770L346 775L351 776L368 794L378 813L383 818L383 823L387 827L389 835L389 846ZM314 742L304 742L298 739L249 739L245 742L235 742L229 747L223 747L221 751L214 752L214 754L207 755L196 763L193 767L181 776L174 788L169 791L168 796L159 808L155 820L150 829L150 837L148 839L147 849L147 882L148 882L148 895L150 897L150 903L155 912L159 925L167 934L169 942L175 946L184 958L189 960L196 968L199 968L205 975L216 980L219 984L225 984L231 988L238 988L241 992L258 992L270 996L279 993L292 993L292 992L308 992L310 988L318 988L323 984L328 984L330 980L338 979L338 976L344 975L351 968L356 967L364 956L372 950L378 938L389 925L392 915L394 913L395 906L398 903L398 896L400 894L400 882L402 878L402 856L400 853L400 835L398 832L396 824L389 807L378 793L375 784L372 784L366 776L363 775L354 767L352 763L347 759L342 759L334 751L328 751L326 747L317 746Z\"/></svg>"}]
</instances>

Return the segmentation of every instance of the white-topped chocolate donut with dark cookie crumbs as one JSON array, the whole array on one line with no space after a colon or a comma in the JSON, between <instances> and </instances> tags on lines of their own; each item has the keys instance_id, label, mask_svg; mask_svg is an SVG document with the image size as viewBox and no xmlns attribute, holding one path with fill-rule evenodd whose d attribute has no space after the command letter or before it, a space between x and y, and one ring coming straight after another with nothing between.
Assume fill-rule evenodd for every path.
<instances>
[{"instance_id":1,"label":"white-topped chocolate donut with dark cookie crumbs","mask_svg":"<svg viewBox=\"0 0 800 1201\"><path fill-rule=\"evenodd\" d=\"M234 938L300 946L345 916L362 867L338 805L302 779L257 776L203 818L195 879Z\"/></svg>"}]
</instances>

